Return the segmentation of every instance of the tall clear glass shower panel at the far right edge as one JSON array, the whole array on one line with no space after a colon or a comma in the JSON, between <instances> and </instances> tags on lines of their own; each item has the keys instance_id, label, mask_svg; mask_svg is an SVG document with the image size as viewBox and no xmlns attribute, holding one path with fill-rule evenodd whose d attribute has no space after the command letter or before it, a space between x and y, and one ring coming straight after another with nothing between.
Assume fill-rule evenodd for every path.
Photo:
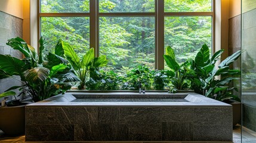
<instances>
[{"instance_id":1,"label":"tall clear glass shower panel at the far right edge","mask_svg":"<svg viewBox=\"0 0 256 143\"><path fill-rule=\"evenodd\" d=\"M255 1L242 1L242 142L256 142L255 14Z\"/></svg>"}]
</instances>

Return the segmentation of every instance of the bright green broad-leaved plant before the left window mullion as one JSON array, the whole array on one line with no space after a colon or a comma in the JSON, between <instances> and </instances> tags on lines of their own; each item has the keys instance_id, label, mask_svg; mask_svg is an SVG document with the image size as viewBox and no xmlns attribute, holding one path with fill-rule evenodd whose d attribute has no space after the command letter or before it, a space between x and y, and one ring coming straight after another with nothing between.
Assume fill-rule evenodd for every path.
<instances>
[{"instance_id":1,"label":"bright green broad-leaved plant before the left window mullion","mask_svg":"<svg viewBox=\"0 0 256 143\"><path fill-rule=\"evenodd\" d=\"M100 57L94 57L94 48L91 48L83 58L79 58L74 49L69 43L60 41L62 49L64 50L64 56L70 62L75 71L76 76L80 79L79 89L85 89L85 83L90 76L91 71L95 71L98 67L104 67L107 65L106 55L100 55Z\"/></svg>"}]
</instances>

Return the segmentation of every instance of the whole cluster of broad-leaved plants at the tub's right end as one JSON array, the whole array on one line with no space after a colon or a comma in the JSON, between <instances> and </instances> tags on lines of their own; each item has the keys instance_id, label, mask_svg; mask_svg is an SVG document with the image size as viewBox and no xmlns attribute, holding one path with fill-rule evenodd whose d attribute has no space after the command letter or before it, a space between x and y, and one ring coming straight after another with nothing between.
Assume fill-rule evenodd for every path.
<instances>
[{"instance_id":1,"label":"whole cluster of broad-leaved plants at the tub's right end","mask_svg":"<svg viewBox=\"0 0 256 143\"><path fill-rule=\"evenodd\" d=\"M179 65L175 61L174 50L168 46L164 58L170 69L166 70L166 73L171 76L172 86L170 91L175 92L177 89L189 88L198 94L215 100L233 99L240 101L233 94L233 91L238 91L238 89L230 87L229 84L232 80L237 79L240 75L240 70L232 70L229 65L239 58L241 51L230 55L215 67L223 51L221 49L210 57L209 47L204 44L196 54L195 60L187 60ZM188 80L191 81L191 86L187 84Z\"/></svg>"}]
</instances>

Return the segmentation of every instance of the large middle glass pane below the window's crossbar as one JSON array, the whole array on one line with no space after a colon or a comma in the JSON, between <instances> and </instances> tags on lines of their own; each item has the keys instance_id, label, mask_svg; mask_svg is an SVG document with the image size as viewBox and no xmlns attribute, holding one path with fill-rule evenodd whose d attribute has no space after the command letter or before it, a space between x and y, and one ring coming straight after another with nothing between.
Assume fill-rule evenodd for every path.
<instances>
[{"instance_id":1,"label":"large middle glass pane below the window's crossbar","mask_svg":"<svg viewBox=\"0 0 256 143\"><path fill-rule=\"evenodd\" d=\"M100 54L107 55L107 70L154 69L155 18L100 17Z\"/></svg>"}]
</instances>

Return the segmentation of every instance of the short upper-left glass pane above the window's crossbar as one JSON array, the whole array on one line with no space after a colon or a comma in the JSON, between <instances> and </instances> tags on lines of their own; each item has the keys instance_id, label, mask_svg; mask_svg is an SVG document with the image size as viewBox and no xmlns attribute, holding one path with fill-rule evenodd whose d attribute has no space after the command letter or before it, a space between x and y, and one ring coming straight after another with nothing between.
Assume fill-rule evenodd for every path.
<instances>
[{"instance_id":1,"label":"short upper-left glass pane above the window's crossbar","mask_svg":"<svg viewBox=\"0 0 256 143\"><path fill-rule=\"evenodd\" d=\"M90 0L41 0L41 13L88 13Z\"/></svg>"}]
</instances>

